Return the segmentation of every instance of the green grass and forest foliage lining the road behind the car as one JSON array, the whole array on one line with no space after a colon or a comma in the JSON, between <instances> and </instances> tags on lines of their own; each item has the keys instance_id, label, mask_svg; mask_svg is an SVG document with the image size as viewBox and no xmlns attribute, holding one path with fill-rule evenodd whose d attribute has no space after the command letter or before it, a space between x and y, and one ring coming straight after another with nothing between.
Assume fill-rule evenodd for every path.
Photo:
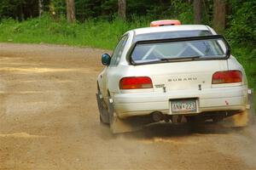
<instances>
[{"instance_id":1,"label":"green grass and forest foliage lining the road behind the car","mask_svg":"<svg viewBox=\"0 0 256 170\"><path fill-rule=\"evenodd\" d=\"M123 15L119 17L117 13L117 0L78 0L75 1L75 21L66 19L65 0L44 1L41 4L42 11L39 9L39 16L37 8L30 13L31 15L24 11L17 12L15 9L20 8L19 5L31 9L33 6L38 7L38 4L26 3L26 0L15 1L17 7L14 4L10 6L8 3L12 2L10 0L3 0L0 3L0 42L52 43L113 49L125 31L149 26L152 20L177 19L183 24L200 22L213 26L229 40L232 54L246 69L249 87L256 90L256 1L254 0L223 1L227 8L223 16L224 27L218 23L216 26L214 8L219 7L216 6L215 0L159 2L131 0L127 4L125 18ZM196 9L195 5L198 2L201 6L196 6ZM195 20L195 11L200 8L201 14Z\"/></svg>"}]
</instances>

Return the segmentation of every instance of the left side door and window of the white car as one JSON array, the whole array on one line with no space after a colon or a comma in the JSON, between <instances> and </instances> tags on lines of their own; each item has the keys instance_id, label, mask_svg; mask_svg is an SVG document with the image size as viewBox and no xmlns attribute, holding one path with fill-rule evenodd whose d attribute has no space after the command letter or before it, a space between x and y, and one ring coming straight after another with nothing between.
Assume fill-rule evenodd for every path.
<instances>
[{"instance_id":1,"label":"left side door and window of the white car","mask_svg":"<svg viewBox=\"0 0 256 170\"><path fill-rule=\"evenodd\" d=\"M128 35L126 34L125 36L121 37L120 41L118 42L116 48L113 51L110 65L106 68L102 75L102 82L103 82L103 96L104 99L108 98L108 80L109 77L113 76L113 73L116 71L117 65L119 65L119 60L123 54L126 42L128 39Z\"/></svg>"}]
</instances>

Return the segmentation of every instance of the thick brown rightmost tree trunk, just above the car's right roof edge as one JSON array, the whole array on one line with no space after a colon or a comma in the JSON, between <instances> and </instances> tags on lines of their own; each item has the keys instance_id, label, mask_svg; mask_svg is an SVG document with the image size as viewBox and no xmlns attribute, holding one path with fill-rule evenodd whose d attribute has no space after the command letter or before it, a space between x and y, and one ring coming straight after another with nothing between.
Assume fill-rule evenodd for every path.
<instances>
[{"instance_id":1,"label":"thick brown rightmost tree trunk, just above the car's right roof edge","mask_svg":"<svg viewBox=\"0 0 256 170\"><path fill-rule=\"evenodd\" d=\"M226 26L225 0L213 1L213 28L218 33L223 33Z\"/></svg>"}]
</instances>

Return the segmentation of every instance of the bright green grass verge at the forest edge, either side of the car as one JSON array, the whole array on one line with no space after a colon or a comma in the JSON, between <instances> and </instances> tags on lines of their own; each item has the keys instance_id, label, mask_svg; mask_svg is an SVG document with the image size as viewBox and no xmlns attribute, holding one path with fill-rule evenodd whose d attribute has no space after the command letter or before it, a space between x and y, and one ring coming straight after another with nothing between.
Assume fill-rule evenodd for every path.
<instances>
[{"instance_id":1,"label":"bright green grass verge at the forest edge, either side of the car","mask_svg":"<svg viewBox=\"0 0 256 170\"><path fill-rule=\"evenodd\" d=\"M0 42L44 42L113 49L125 31L148 26L149 22L149 19L135 18L130 22L115 19L113 21L86 20L83 23L69 24L65 18L56 20L48 15L23 22L9 19L0 22ZM249 87L255 89L254 96L256 96L256 49L239 47L237 44L232 46L232 54L245 68ZM256 104L256 98L254 104Z\"/></svg>"}]
</instances>

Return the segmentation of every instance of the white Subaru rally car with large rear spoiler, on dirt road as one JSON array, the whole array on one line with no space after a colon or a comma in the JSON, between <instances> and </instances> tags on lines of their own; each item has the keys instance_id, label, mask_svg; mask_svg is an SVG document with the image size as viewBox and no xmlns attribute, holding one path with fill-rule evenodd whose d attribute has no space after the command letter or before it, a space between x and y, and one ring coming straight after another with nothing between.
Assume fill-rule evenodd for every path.
<instances>
[{"instance_id":1,"label":"white Subaru rally car with large rear spoiler, on dirt road","mask_svg":"<svg viewBox=\"0 0 256 170\"><path fill-rule=\"evenodd\" d=\"M127 31L112 56L102 55L102 64L96 98L100 120L113 133L152 122L218 122L253 112L244 69L209 26Z\"/></svg>"}]
</instances>

